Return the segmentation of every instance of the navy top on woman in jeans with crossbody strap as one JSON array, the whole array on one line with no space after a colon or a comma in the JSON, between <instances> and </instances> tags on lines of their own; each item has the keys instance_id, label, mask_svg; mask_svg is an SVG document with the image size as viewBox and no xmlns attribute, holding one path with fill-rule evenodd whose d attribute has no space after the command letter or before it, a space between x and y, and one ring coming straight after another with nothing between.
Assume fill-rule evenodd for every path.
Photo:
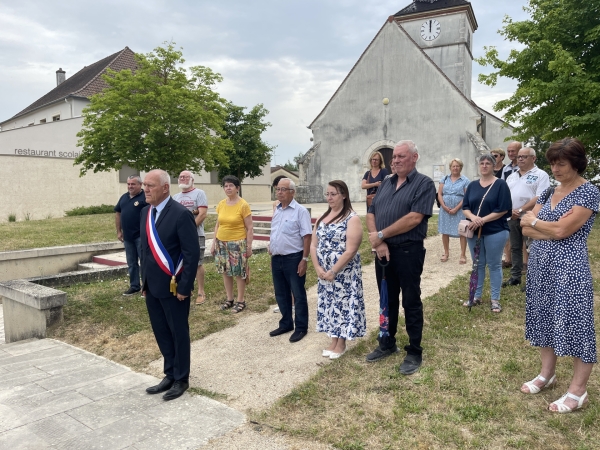
<instances>
[{"instance_id":1,"label":"navy top on woman in jeans with crossbody strap","mask_svg":"<svg viewBox=\"0 0 600 450\"><path fill-rule=\"evenodd\" d=\"M489 186L481 187L481 184L478 180L469 183L467 192L465 192L465 198L463 200L463 209L468 209L479 217L485 217L494 212L506 211L506 214L504 214L502 217L483 225L481 230L481 234L483 236L496 234L502 230L508 230L508 222L506 220L512 214L512 198L510 196L510 189L508 188L506 181L501 179L497 179L494 182L489 194L485 197L485 200L481 205L481 212L477 214L481 199L488 190L488 187Z\"/></svg>"}]
</instances>

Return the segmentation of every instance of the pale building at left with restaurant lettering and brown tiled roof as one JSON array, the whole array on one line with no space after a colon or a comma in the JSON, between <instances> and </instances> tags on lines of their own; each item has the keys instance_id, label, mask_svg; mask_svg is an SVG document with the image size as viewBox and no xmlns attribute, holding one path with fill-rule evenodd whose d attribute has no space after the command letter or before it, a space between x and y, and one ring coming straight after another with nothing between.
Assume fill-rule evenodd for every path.
<instances>
[{"instance_id":1,"label":"pale building at left with restaurant lettering and brown tiled roof","mask_svg":"<svg viewBox=\"0 0 600 450\"><path fill-rule=\"evenodd\" d=\"M18 220L43 219L61 217L64 211L78 206L112 205L127 191L127 176L138 174L133 169L88 172L80 177L73 160L81 151L77 133L83 124L82 111L92 95L107 87L102 75L108 68L119 71L135 67L135 54L125 47L69 78L59 69L54 89L0 122L0 222L9 214ZM210 205L225 197L216 172L196 174L194 182L206 192ZM172 183L177 184L177 180ZM266 166L260 177L244 180L244 198L268 201L270 185ZM177 186L171 189L178 190Z\"/></svg>"}]
</instances>

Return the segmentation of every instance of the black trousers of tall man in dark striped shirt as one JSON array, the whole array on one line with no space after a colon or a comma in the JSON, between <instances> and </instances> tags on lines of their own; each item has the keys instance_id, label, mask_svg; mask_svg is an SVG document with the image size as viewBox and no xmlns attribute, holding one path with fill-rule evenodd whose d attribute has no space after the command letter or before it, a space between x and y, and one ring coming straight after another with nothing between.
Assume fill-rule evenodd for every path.
<instances>
[{"instance_id":1,"label":"black trousers of tall man in dark striped shirt","mask_svg":"<svg viewBox=\"0 0 600 450\"><path fill-rule=\"evenodd\" d=\"M400 309L400 291L402 291L402 307L408 334L408 345L404 347L407 354L421 355L421 337L423 335L423 302L421 302L421 274L425 262L423 242L415 242L404 247L389 247L390 263L385 267L389 306L389 337L380 339L382 349L390 349L396 345L398 331L398 313ZM383 260L385 263L385 260ZM375 264L377 287L381 292L383 268Z\"/></svg>"}]
</instances>

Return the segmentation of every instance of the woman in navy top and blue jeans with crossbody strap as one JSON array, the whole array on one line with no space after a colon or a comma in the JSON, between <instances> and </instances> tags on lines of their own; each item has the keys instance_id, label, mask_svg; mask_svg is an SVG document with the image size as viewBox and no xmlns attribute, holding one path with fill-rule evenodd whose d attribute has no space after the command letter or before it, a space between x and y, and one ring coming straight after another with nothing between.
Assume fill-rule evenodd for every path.
<instances>
[{"instance_id":1,"label":"woman in navy top and blue jeans with crossbody strap","mask_svg":"<svg viewBox=\"0 0 600 450\"><path fill-rule=\"evenodd\" d=\"M467 187L463 200L463 213L471 221L469 228L473 237L468 239L471 258L474 260L475 244L481 233L479 264L477 266L478 281L475 298L466 301L464 306L481 304L481 292L485 279L485 266L490 271L492 291L492 312L502 311L500 305L500 287L502 284L502 249L508 239L507 219L512 212L510 190L504 180L494 176L496 162L492 155L481 155L479 174L481 178Z\"/></svg>"}]
</instances>

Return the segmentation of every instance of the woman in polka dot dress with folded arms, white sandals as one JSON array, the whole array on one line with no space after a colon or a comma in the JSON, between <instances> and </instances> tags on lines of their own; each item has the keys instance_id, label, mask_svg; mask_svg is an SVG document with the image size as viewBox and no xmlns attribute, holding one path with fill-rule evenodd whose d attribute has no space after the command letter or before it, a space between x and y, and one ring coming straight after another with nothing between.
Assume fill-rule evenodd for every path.
<instances>
[{"instance_id":1,"label":"woman in polka dot dress with folded arms, white sandals","mask_svg":"<svg viewBox=\"0 0 600 450\"><path fill-rule=\"evenodd\" d=\"M567 393L549 410L570 413L587 403L587 382L596 357L594 290L587 239L598 213L600 192L581 177L587 167L585 148L577 139L553 143L546 152L560 185L547 189L533 211L521 218L529 247L525 338L540 347L540 374L521 387L537 394L556 384L558 356L573 357Z\"/></svg>"}]
</instances>

